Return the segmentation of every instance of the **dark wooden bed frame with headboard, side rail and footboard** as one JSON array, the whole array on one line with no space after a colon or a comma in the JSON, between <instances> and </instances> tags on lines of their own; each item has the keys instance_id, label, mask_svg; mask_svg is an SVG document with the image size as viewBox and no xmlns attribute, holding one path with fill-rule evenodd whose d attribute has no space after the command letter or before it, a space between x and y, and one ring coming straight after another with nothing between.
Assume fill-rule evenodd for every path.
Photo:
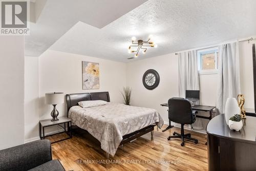
<instances>
[{"instance_id":1,"label":"dark wooden bed frame with headboard, side rail and footboard","mask_svg":"<svg viewBox=\"0 0 256 171\"><path fill-rule=\"evenodd\" d=\"M67 99L67 108L68 108L67 115L68 115L70 108L74 105L78 105L79 101L104 100L104 101L110 102L110 95L109 95L109 92L78 93L78 94L67 94L66 99ZM141 130L135 131L131 134L124 135L123 140L120 142L120 145L123 145L127 142L132 142L136 138L138 138L146 133L149 133L149 132L151 132L151 139L153 140L153 133L154 133L155 126L156 125L149 125L149 126L144 127ZM81 128L79 128L79 129L81 129ZM86 130L84 130L84 131L86 131ZM107 154L107 158L108 157L109 157L109 155Z\"/></svg>"}]
</instances>

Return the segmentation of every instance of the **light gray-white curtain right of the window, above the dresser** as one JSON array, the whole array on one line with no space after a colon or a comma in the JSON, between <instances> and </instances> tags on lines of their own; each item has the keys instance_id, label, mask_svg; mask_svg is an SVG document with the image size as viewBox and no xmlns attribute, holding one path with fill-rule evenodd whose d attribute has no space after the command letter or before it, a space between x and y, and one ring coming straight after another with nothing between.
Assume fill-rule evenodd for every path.
<instances>
[{"instance_id":1,"label":"light gray-white curtain right of the window, above the dresser","mask_svg":"<svg viewBox=\"0 0 256 171\"><path fill-rule=\"evenodd\" d=\"M228 97L237 98L240 94L238 42L224 44L219 47L217 114L223 114Z\"/></svg>"}]
</instances>

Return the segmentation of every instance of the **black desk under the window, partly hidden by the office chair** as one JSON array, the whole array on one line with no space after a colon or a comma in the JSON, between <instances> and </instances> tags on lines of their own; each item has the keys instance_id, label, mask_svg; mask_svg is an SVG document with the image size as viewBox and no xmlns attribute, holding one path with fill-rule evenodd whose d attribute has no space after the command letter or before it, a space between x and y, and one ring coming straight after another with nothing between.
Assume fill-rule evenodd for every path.
<instances>
[{"instance_id":1,"label":"black desk under the window, partly hidden by the office chair","mask_svg":"<svg viewBox=\"0 0 256 171\"><path fill-rule=\"evenodd\" d=\"M168 107L168 103L163 103L163 104L160 104L161 106L167 106ZM216 106L209 106L209 105L194 105L194 106L191 106L192 110L194 111L204 111L204 112L209 112L210 116L207 117L207 116L200 116L200 115L197 115L197 118L203 118L203 119L209 119L211 120L211 114L212 114L212 110L214 110L216 108ZM169 120L169 125L168 127L166 127L166 129L164 129L162 132L166 131L166 130L169 130L170 128L172 128L173 125L170 124L170 120Z\"/></svg>"}]
</instances>

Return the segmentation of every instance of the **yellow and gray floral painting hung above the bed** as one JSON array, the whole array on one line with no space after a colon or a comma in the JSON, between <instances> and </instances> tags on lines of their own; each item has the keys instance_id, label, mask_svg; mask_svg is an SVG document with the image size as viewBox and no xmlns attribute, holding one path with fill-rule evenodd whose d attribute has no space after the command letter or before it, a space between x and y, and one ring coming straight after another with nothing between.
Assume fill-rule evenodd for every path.
<instances>
[{"instance_id":1,"label":"yellow and gray floral painting hung above the bed","mask_svg":"<svg viewBox=\"0 0 256 171\"><path fill-rule=\"evenodd\" d=\"M99 89L99 63L82 61L82 89Z\"/></svg>"}]
</instances>

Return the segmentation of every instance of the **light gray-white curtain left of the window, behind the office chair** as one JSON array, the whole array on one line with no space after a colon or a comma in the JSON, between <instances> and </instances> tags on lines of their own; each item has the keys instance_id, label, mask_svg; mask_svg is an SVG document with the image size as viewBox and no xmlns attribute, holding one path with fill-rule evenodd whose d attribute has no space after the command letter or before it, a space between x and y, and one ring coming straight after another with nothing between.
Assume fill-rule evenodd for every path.
<instances>
[{"instance_id":1,"label":"light gray-white curtain left of the window, behind the office chair","mask_svg":"<svg viewBox=\"0 0 256 171\"><path fill-rule=\"evenodd\" d=\"M186 90L199 90L197 51L179 53L179 97L185 98ZM195 129L203 129L202 120L197 118Z\"/></svg>"}]
</instances>

